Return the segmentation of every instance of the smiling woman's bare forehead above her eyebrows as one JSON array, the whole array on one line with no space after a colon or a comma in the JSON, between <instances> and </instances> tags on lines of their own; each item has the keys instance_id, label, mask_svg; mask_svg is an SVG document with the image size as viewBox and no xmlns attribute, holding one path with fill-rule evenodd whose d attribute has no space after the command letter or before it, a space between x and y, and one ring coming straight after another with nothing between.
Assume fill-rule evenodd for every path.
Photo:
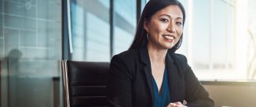
<instances>
[{"instance_id":1,"label":"smiling woman's bare forehead above her eyebrows","mask_svg":"<svg viewBox=\"0 0 256 107\"><path fill-rule=\"evenodd\" d=\"M155 12L153 16L160 16L160 15L169 15L172 17L181 17L183 18L183 14L181 12L181 9L178 5L168 5L163 9L160 9L158 12Z\"/></svg>"}]
</instances>

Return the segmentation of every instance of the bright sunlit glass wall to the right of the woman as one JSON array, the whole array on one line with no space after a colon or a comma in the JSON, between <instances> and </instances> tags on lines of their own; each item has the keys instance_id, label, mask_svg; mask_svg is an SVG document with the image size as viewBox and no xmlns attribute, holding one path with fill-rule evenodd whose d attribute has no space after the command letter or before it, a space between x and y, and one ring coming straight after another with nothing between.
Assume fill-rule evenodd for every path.
<instances>
[{"instance_id":1,"label":"bright sunlit glass wall to the right of the woman","mask_svg":"<svg viewBox=\"0 0 256 107\"><path fill-rule=\"evenodd\" d=\"M187 13L181 49L200 80L255 80L254 0L180 0Z\"/></svg>"}]
</instances>

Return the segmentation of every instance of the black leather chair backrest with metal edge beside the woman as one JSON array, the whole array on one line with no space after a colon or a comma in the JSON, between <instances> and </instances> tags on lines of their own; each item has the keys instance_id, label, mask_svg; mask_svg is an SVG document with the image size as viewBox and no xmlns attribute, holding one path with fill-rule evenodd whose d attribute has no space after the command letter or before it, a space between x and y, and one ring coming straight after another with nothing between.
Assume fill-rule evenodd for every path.
<instances>
[{"instance_id":1,"label":"black leather chair backrest with metal edge beside the woman","mask_svg":"<svg viewBox=\"0 0 256 107\"><path fill-rule=\"evenodd\" d=\"M64 107L107 107L109 62L61 61Z\"/></svg>"}]
</instances>

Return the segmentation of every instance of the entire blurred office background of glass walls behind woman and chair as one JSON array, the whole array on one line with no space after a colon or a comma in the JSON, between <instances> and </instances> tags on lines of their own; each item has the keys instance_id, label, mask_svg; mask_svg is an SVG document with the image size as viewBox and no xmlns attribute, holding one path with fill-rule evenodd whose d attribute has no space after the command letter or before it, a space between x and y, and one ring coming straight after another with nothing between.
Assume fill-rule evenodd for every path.
<instances>
[{"instance_id":1,"label":"entire blurred office background of glass walls behind woman and chair","mask_svg":"<svg viewBox=\"0 0 256 107\"><path fill-rule=\"evenodd\" d=\"M0 106L62 106L60 60L109 62L126 51L147 1L0 0ZM177 53L217 107L254 106L256 1L179 1L187 17Z\"/></svg>"}]
</instances>

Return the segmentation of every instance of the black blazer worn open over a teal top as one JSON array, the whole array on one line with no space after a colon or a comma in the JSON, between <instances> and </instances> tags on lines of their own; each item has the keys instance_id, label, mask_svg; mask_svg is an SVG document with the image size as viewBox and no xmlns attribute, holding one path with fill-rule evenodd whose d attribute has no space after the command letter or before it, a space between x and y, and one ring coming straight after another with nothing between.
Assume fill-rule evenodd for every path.
<instances>
[{"instance_id":1,"label":"black blazer worn open over a teal top","mask_svg":"<svg viewBox=\"0 0 256 107\"><path fill-rule=\"evenodd\" d=\"M166 66L170 102L185 100L188 107L214 107L184 55L168 52ZM110 107L152 107L152 72L146 47L113 56L107 91Z\"/></svg>"}]
</instances>

